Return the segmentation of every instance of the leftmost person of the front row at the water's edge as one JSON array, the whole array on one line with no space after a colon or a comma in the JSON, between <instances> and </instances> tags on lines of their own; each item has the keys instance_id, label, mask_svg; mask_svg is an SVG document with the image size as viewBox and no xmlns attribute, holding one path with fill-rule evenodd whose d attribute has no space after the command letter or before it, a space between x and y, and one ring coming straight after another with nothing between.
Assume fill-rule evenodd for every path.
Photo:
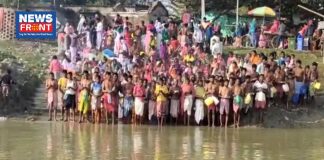
<instances>
[{"instance_id":1,"label":"leftmost person of the front row at the water's edge","mask_svg":"<svg viewBox=\"0 0 324 160\"><path fill-rule=\"evenodd\" d=\"M47 89L47 108L49 119L48 121L52 120L52 111L54 110L54 119L56 119L56 107L57 107L57 82L54 78L54 73L51 72L49 74L49 78L46 80L46 89Z\"/></svg>"}]
</instances>

